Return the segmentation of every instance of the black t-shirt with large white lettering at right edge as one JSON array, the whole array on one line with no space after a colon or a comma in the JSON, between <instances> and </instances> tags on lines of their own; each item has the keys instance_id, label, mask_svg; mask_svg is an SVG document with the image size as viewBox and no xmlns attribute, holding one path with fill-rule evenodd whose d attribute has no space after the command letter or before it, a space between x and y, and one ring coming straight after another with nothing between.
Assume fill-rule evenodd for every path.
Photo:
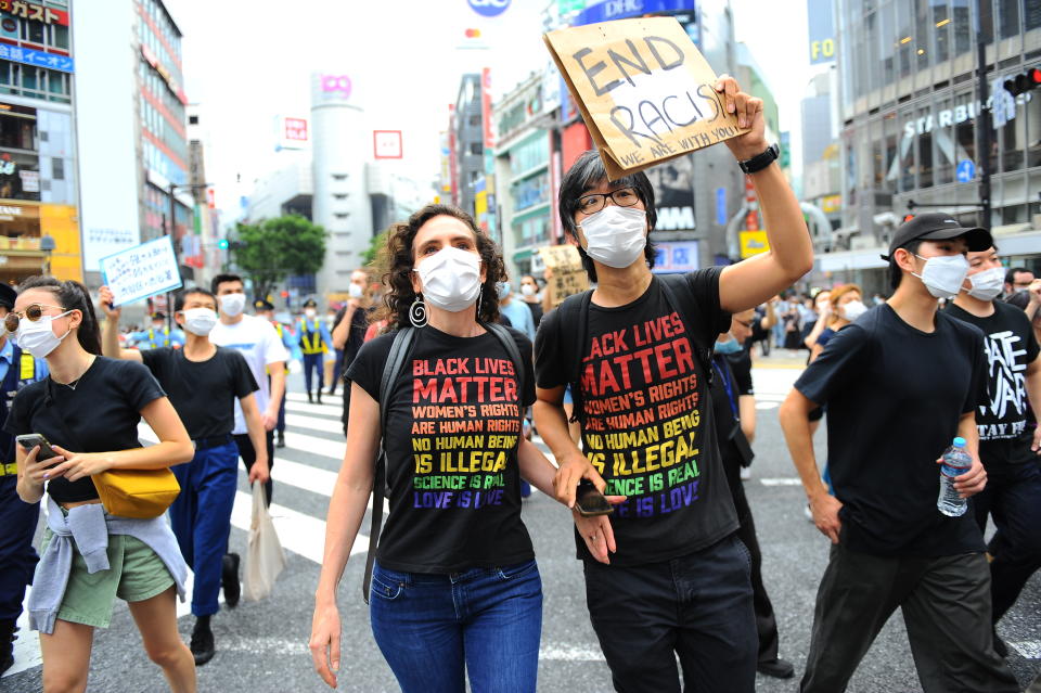
<instances>
[{"instance_id":1,"label":"black t-shirt with large white lettering at right edge","mask_svg":"<svg viewBox=\"0 0 1041 693\"><path fill-rule=\"evenodd\" d=\"M1038 339L1026 313L994 301L987 318L948 304L947 315L976 325L986 338L989 372L987 399L976 411L979 459L988 469L1037 460L1030 450L1033 437L1027 400L1027 367L1038 358Z\"/></svg>"}]
</instances>

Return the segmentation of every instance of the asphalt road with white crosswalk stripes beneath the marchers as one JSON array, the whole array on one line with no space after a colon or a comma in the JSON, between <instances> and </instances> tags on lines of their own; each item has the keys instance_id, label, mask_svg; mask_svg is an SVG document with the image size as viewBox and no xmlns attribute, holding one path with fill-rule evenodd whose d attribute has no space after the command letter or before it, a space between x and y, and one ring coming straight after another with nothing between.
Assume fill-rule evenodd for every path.
<instances>
[{"instance_id":1,"label":"asphalt road with white crosswalk stripes beneath the marchers","mask_svg":"<svg viewBox=\"0 0 1041 693\"><path fill-rule=\"evenodd\" d=\"M776 420L776 407L798 376L797 359L774 358L755 371L759 400L756 461L745 482L763 554L763 576L777 614L781 655L795 664L797 676L777 681L760 676L758 690L798 690L810 640L812 605L827 556L827 540L804 516L805 497L788 460ZM303 390L294 376L297 393ZM274 593L261 602L243 602L214 617L217 655L200 668L201 691L296 693L329 690L314 675L307 640L313 592L321 561L324 517L332 480L343 453L339 398L323 406L292 395L288 447L274 466L272 514L287 565ZM822 448L823 434L818 435ZM823 450L819 453L823 459ZM232 550L245 554L249 497L240 475ZM581 568L574 557L568 513L536 492L525 503L524 519L535 542L545 593L540 691L568 693L611 691L611 677L589 625ZM368 517L362 525L368 532ZM361 599L365 539L356 547L339 590L344 650L339 690L396 691L394 678L372 639ZM185 641L193 618L187 605L179 621ZM25 629L23 628L23 633ZM1034 576L1018 604L999 626L1011 645L1008 662L1025 686L1041 670L1041 577ZM0 679L0 693L42 690L35 634L17 643L17 663ZM112 626L98 630L88 691L126 693L166 690L158 668L145 656L125 604L117 603ZM865 656L850 686L857 693L921 691L899 616L890 619Z\"/></svg>"}]
</instances>

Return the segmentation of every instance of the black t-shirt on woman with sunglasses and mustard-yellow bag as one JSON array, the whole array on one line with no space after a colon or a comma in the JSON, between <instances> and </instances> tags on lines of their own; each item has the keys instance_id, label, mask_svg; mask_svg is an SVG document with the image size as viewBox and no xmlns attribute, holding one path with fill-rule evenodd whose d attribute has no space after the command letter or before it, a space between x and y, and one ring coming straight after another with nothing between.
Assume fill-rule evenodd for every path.
<instances>
[{"instance_id":1,"label":"black t-shirt on woman with sunglasses and mustard-yellow bag","mask_svg":"<svg viewBox=\"0 0 1041 693\"><path fill-rule=\"evenodd\" d=\"M99 356L76 389L50 377L24 387L11 405L3 429L16 436L39 433L52 446L69 452L140 448L141 410L160 397L166 393L149 369ZM47 492L64 503L98 498L89 476L77 482L52 479Z\"/></svg>"}]
</instances>

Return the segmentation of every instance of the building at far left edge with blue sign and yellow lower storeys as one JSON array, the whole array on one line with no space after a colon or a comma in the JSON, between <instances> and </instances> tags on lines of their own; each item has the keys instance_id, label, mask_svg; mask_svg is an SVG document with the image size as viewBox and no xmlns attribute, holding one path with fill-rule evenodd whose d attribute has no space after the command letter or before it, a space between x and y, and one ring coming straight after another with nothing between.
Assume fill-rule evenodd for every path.
<instances>
[{"instance_id":1,"label":"building at far left edge with blue sign and yellow lower storeys","mask_svg":"<svg viewBox=\"0 0 1041 693\"><path fill-rule=\"evenodd\" d=\"M0 3L0 281L82 279L67 0Z\"/></svg>"}]
</instances>

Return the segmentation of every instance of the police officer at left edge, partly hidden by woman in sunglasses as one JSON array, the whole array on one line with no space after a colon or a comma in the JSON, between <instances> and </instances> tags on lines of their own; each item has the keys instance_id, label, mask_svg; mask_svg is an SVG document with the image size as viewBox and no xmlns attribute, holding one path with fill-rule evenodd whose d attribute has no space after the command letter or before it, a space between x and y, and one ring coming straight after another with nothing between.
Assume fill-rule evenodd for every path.
<instances>
[{"instance_id":1,"label":"police officer at left edge, partly hidden by woman in sunglasses","mask_svg":"<svg viewBox=\"0 0 1041 693\"><path fill-rule=\"evenodd\" d=\"M14 308L17 293L0 282L0 321ZM15 490L18 470L14 436L3 431L11 400L20 389L47 377L47 361L23 352L0 329L0 673L14 664L14 640L25 588L33 581L39 557L33 535L40 504L26 503Z\"/></svg>"}]
</instances>

